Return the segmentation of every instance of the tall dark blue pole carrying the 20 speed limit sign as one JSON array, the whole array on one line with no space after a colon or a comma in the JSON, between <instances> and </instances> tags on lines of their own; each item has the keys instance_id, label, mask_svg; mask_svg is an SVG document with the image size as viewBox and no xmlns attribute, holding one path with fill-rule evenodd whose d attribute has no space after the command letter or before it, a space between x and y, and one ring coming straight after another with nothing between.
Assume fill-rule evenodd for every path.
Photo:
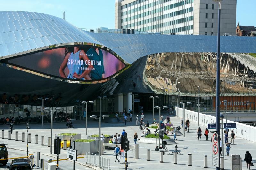
<instances>
[{"instance_id":1,"label":"tall dark blue pole carrying the 20 speed limit sign","mask_svg":"<svg viewBox=\"0 0 256 170\"><path fill-rule=\"evenodd\" d=\"M221 2L219 2L218 10L218 36L217 36L217 64L216 64L216 133L218 134L218 149L220 150L220 13ZM218 152L219 166L216 170L220 170L220 152Z\"/></svg>"}]
</instances>

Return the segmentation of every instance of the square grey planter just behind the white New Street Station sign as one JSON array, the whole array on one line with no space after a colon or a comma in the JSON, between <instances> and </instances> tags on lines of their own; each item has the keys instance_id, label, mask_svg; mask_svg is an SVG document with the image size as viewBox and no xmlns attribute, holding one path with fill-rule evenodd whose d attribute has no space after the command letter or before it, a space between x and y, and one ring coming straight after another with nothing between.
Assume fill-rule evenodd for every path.
<instances>
[{"instance_id":1,"label":"square grey planter just behind the white New Street Station sign","mask_svg":"<svg viewBox=\"0 0 256 170\"><path fill-rule=\"evenodd\" d=\"M73 148L74 142L71 142ZM77 154L85 155L86 152L98 153L99 141L95 140L93 142L75 142L75 149L77 149Z\"/></svg>"}]
</instances>

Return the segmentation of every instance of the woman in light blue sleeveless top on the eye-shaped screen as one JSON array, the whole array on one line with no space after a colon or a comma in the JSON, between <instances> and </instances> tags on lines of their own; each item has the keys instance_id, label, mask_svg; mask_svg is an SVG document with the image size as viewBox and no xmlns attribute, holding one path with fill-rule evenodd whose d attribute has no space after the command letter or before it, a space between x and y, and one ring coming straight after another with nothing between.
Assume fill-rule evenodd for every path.
<instances>
[{"instance_id":1,"label":"woman in light blue sleeveless top on the eye-shaped screen","mask_svg":"<svg viewBox=\"0 0 256 170\"><path fill-rule=\"evenodd\" d=\"M89 58L84 50L79 50L79 47L66 47L64 60L59 69L60 76L63 78L91 80L88 74L93 66L88 65L86 70L83 69L84 63L88 63L88 61ZM68 67L68 76L64 73L66 67Z\"/></svg>"}]
</instances>

